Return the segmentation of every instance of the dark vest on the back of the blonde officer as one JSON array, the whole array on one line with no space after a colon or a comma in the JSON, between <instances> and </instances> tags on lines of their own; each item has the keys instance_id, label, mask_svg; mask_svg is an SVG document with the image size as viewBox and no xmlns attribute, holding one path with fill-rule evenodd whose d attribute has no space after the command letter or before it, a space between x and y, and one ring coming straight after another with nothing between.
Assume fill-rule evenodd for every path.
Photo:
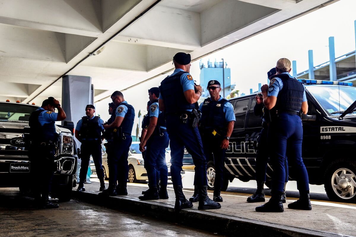
<instances>
[{"instance_id":1,"label":"dark vest on the back of the blonde officer","mask_svg":"<svg viewBox=\"0 0 356 237\"><path fill-rule=\"evenodd\" d=\"M276 77L283 82L282 90L278 92L276 110L300 111L303 101L304 86L288 74L278 74Z\"/></svg>"}]
</instances>

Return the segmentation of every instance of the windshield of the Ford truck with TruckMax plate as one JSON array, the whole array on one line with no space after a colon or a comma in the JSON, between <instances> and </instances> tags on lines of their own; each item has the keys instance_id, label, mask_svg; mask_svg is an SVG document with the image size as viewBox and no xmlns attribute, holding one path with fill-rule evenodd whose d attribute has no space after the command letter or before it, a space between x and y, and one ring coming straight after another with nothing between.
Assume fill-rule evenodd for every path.
<instances>
[{"instance_id":1,"label":"windshield of the Ford truck with TruckMax plate","mask_svg":"<svg viewBox=\"0 0 356 237\"><path fill-rule=\"evenodd\" d=\"M37 106L25 104L0 103L0 122L28 122Z\"/></svg>"}]
</instances>

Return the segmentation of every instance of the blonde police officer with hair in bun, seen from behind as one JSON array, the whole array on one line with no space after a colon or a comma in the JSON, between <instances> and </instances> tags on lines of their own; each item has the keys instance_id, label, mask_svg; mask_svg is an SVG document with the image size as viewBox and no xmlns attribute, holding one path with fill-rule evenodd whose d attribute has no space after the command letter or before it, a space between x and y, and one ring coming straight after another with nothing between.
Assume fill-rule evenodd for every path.
<instances>
[{"instance_id":1,"label":"blonde police officer with hair in bun, seen from behind","mask_svg":"<svg viewBox=\"0 0 356 237\"><path fill-rule=\"evenodd\" d=\"M312 210L309 198L309 180L307 169L302 160L303 128L300 111L308 112L308 102L304 86L289 75L290 61L281 58L277 61L277 75L263 85L263 104L271 110L272 121L269 125L268 140L271 148L270 157L273 167L272 197L269 201L257 206L256 211L283 212L281 202L284 181L286 179L285 159L288 142L288 159L294 167L297 177L299 200L288 204L288 208Z\"/></svg>"}]
</instances>

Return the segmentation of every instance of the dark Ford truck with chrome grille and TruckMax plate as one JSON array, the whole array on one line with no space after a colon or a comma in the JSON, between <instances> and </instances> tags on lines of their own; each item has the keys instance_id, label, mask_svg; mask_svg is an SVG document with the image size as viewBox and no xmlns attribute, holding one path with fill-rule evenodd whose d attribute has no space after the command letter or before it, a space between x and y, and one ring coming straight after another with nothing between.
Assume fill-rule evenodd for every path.
<instances>
[{"instance_id":1,"label":"dark Ford truck with chrome grille and TruckMax plate","mask_svg":"<svg viewBox=\"0 0 356 237\"><path fill-rule=\"evenodd\" d=\"M38 106L0 102L0 187L19 187L28 192L33 184L28 157L28 119ZM76 186L75 170L77 155L73 140L73 122L65 121L64 126L56 125L59 140L53 162L52 197L69 201L72 188ZM41 151L38 151L41 152ZM41 182L38 180L37 182Z\"/></svg>"}]
</instances>

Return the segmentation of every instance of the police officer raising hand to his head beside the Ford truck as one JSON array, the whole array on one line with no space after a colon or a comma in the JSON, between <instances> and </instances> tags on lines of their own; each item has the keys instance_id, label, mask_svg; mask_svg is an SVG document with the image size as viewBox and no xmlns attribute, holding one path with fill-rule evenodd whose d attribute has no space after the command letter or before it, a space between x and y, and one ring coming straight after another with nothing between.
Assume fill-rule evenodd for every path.
<instances>
[{"instance_id":1,"label":"police officer raising hand to his head beside the Ford truck","mask_svg":"<svg viewBox=\"0 0 356 237\"><path fill-rule=\"evenodd\" d=\"M54 113L54 109L58 113ZM29 157L31 161L31 172L33 172L33 183L36 183L35 201L40 208L58 208L48 200L49 191L53 177L54 154L57 149L58 134L54 122L66 119L58 100L48 97L42 102L42 106L32 112L30 125Z\"/></svg>"}]
</instances>

